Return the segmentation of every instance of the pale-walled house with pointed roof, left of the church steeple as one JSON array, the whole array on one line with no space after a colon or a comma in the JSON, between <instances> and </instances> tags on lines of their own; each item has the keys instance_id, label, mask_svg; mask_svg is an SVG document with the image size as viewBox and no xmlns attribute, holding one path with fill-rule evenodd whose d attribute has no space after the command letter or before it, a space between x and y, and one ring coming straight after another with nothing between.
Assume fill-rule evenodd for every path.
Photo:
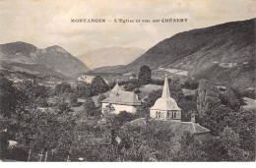
<instances>
[{"instance_id":1,"label":"pale-walled house with pointed roof, left of the church steeple","mask_svg":"<svg viewBox=\"0 0 256 168\"><path fill-rule=\"evenodd\" d=\"M103 114L105 112L118 114L121 111L135 113L141 101L133 91L124 91L118 84L115 84L109 97L102 100L101 104Z\"/></svg>"}]
</instances>

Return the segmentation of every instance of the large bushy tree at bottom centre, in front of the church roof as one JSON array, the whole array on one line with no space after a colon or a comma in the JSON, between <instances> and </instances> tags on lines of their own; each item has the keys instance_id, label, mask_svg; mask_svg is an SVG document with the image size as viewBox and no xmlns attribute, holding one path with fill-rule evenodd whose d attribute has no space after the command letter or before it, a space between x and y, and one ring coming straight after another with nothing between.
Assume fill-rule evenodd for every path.
<instances>
[{"instance_id":1,"label":"large bushy tree at bottom centre, in front of the church roof","mask_svg":"<svg viewBox=\"0 0 256 168\"><path fill-rule=\"evenodd\" d=\"M118 136L120 155L131 161L171 161L176 153L177 143L169 125L154 120L142 127L133 124L122 127Z\"/></svg>"}]
</instances>

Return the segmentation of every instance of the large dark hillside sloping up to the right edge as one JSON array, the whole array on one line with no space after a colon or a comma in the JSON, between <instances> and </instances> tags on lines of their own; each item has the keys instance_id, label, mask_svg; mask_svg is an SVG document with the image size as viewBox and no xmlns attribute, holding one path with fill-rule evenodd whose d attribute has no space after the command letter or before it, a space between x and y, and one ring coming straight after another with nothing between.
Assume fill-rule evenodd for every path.
<instances>
[{"instance_id":1,"label":"large dark hillside sloping up to the right edge","mask_svg":"<svg viewBox=\"0 0 256 168\"><path fill-rule=\"evenodd\" d=\"M119 72L181 70L187 76L255 86L255 21L226 23L177 33L149 49ZM185 74L186 76L186 74Z\"/></svg>"}]
</instances>

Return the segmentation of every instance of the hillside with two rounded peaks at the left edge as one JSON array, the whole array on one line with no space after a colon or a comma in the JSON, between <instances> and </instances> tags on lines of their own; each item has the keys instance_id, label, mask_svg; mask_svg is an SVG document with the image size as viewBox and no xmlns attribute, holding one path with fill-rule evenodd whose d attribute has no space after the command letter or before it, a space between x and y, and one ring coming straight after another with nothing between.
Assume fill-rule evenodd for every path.
<instances>
[{"instance_id":1,"label":"hillside with two rounded peaks at the left edge","mask_svg":"<svg viewBox=\"0 0 256 168\"><path fill-rule=\"evenodd\" d=\"M72 77L89 69L60 46L39 49L25 42L0 45L1 69L39 77Z\"/></svg>"}]
</instances>

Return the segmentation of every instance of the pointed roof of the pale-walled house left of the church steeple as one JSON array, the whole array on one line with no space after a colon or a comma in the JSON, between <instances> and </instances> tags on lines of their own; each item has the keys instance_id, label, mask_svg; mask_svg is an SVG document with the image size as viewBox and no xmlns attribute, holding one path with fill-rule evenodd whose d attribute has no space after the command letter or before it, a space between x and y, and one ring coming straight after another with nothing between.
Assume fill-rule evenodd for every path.
<instances>
[{"instance_id":1,"label":"pointed roof of the pale-walled house left of the church steeple","mask_svg":"<svg viewBox=\"0 0 256 168\"><path fill-rule=\"evenodd\" d=\"M141 105L136 94L130 91L123 91L118 84L111 90L110 96L103 99L102 103L122 104L122 105Z\"/></svg>"}]
</instances>

